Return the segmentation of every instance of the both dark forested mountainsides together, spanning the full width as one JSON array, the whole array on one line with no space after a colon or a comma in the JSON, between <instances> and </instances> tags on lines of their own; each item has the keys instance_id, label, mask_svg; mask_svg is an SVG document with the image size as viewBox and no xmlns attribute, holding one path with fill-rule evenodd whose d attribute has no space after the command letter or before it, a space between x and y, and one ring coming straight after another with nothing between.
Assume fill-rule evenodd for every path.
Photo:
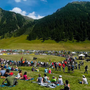
<instances>
[{"instance_id":1,"label":"both dark forested mountainsides together, spanning the full width","mask_svg":"<svg viewBox=\"0 0 90 90\"><path fill-rule=\"evenodd\" d=\"M90 40L90 2L72 2L39 20L0 8L0 38L27 34L28 40Z\"/></svg>"}]
</instances>

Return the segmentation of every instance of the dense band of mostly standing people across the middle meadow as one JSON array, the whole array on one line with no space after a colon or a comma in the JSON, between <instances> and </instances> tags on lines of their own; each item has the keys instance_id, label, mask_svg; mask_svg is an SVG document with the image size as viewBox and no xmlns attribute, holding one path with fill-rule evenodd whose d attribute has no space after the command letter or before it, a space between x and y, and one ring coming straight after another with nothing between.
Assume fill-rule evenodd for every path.
<instances>
[{"instance_id":1,"label":"dense band of mostly standing people across the middle meadow","mask_svg":"<svg viewBox=\"0 0 90 90\"><path fill-rule=\"evenodd\" d=\"M32 71L35 70L36 67L45 67L45 68L55 68L55 71L61 71L63 68L63 72L65 72L65 68L68 68L68 72L72 71L74 72L74 69L80 69L80 67L84 64L83 61L77 63L76 58L72 58L68 56L65 60L62 62L52 62L49 60L49 62L40 62L40 61L29 61L27 59L23 60L23 57L19 61L14 61L14 60L5 60L0 58L0 63L1 65L4 64L4 67L8 67L10 70L16 70L18 71L18 66L33 66ZM16 65L17 67L14 69L13 65ZM9 67L12 66L12 67ZM34 68L35 67L35 68ZM87 72L88 66L86 66L85 73ZM36 68L37 69L37 68ZM50 70L49 70L50 71Z\"/></svg>"}]
</instances>

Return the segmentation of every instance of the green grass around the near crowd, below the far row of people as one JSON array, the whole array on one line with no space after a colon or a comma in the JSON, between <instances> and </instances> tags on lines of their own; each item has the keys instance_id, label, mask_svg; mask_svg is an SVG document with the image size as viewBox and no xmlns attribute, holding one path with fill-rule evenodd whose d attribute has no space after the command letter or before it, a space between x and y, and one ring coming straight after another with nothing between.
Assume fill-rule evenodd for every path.
<instances>
[{"instance_id":1,"label":"green grass around the near crowd, below the far row of people","mask_svg":"<svg viewBox=\"0 0 90 90\"><path fill-rule=\"evenodd\" d=\"M31 61L33 59L33 57L37 57L36 61L44 61L44 62L48 62L49 59L51 59L51 61L62 61L65 58L63 57L58 57L58 56L52 56L52 55L4 55L4 56L0 56L0 58L4 58L4 59L11 59L11 60L20 60L20 58L23 56L23 60L25 60L25 58L29 61ZM77 60L77 62L79 62L80 60ZM62 75L63 81L65 82L65 80L69 80L70 83L70 88L71 90L90 90L90 62L86 62L84 61L84 65L81 66L81 69L77 69L74 71L74 73L70 72L67 73L67 68L65 69L65 73L61 70L61 71L55 71L54 69L52 69L52 74L47 74L47 76L49 76L50 80L52 78L52 76L56 76L58 78L59 75ZM85 65L88 65L88 74L84 74L84 67ZM19 69L22 69L23 73L25 71L28 72L28 76L30 77L34 77L34 81L36 81L38 74L41 74L42 76L44 75L44 68L43 67L39 67L39 72L32 72L31 71L31 67L19 67ZM14 71L15 75L17 75L18 72ZM78 79L81 80L82 75L85 75L88 79L89 84L88 85L81 85L78 83ZM3 79L0 79L0 83L2 83ZM60 90L64 88L64 86L57 86L55 89L53 90ZM39 86L38 84L34 84L31 83L31 81L22 81L22 80L18 80L18 85L15 87L4 87L4 88L0 88L1 90L52 90L51 88L46 88L46 87L42 87Z\"/></svg>"}]
</instances>

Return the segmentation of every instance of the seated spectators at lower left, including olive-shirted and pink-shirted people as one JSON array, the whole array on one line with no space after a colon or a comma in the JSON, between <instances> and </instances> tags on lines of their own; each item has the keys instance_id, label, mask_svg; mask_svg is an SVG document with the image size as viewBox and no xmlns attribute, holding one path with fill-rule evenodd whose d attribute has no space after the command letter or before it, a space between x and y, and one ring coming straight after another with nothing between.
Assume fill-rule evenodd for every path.
<instances>
[{"instance_id":1,"label":"seated spectators at lower left, including olive-shirted and pink-shirted people","mask_svg":"<svg viewBox=\"0 0 90 90\"><path fill-rule=\"evenodd\" d=\"M7 86L13 86L13 85L17 85L17 79L20 80L30 80L31 77L27 76L27 72L24 72L24 74L22 73L22 70L19 70L18 74L15 76L14 73L12 71L10 71L9 69L4 70L3 67L0 68L0 76L2 79L5 79L2 82L2 85L4 85L5 81L7 81Z\"/></svg>"}]
</instances>

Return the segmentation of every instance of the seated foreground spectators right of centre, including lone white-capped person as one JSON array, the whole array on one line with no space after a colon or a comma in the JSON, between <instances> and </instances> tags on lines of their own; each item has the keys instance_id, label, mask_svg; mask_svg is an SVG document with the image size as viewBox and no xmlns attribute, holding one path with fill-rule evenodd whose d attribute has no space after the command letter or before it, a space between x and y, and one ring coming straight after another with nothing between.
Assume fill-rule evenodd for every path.
<instances>
[{"instance_id":1,"label":"seated foreground spectators right of centre, including lone white-capped person","mask_svg":"<svg viewBox=\"0 0 90 90\"><path fill-rule=\"evenodd\" d=\"M41 77L41 74L38 75L37 83L41 85L46 85L46 83L54 83L55 85L64 85L64 89L61 90L70 90L70 84L68 80L65 80L65 83L63 83L62 75L59 75L59 77L53 76L51 80L49 80L49 77L44 74L43 77ZM82 76L81 81L78 80L78 83L80 84L88 84L87 78L85 75Z\"/></svg>"}]
</instances>

